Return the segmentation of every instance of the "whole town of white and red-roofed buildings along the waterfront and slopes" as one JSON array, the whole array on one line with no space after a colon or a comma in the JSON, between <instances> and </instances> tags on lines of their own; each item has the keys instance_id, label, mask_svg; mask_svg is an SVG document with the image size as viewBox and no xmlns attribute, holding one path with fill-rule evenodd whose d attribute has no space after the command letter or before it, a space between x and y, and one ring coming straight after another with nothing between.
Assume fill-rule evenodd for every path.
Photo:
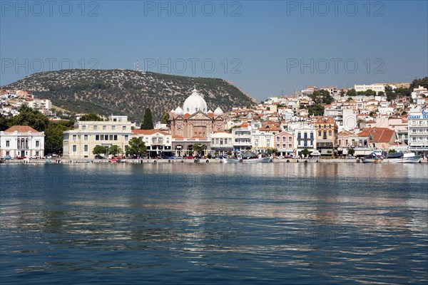
<instances>
[{"instance_id":1,"label":"whole town of white and red-roofed buildings along the waterfront and slopes","mask_svg":"<svg viewBox=\"0 0 428 285\"><path fill-rule=\"evenodd\" d=\"M427 157L427 85L409 86L310 86L229 112L208 109L194 89L157 123L146 109L141 125L126 115L71 114L26 90L0 90L0 156L215 158L252 150L278 159L345 158L382 150Z\"/></svg>"}]
</instances>

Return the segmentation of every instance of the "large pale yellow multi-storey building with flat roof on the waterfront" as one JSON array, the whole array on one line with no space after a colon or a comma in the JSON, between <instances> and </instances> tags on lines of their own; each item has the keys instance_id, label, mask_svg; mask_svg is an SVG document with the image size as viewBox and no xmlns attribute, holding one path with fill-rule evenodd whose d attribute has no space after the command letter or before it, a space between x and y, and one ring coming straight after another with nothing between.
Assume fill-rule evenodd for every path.
<instances>
[{"instance_id":1,"label":"large pale yellow multi-storey building with flat roof on the waterfront","mask_svg":"<svg viewBox=\"0 0 428 285\"><path fill-rule=\"evenodd\" d=\"M131 122L127 116L111 115L107 121L77 121L74 130L63 132L63 157L68 159L94 158L97 145L117 145L123 155L131 138Z\"/></svg>"}]
</instances>

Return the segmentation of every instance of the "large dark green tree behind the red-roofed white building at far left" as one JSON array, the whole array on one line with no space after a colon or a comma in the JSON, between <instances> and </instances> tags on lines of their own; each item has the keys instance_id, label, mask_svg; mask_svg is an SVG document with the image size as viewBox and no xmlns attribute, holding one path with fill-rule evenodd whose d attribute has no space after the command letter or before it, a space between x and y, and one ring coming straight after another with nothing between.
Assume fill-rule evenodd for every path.
<instances>
[{"instance_id":1,"label":"large dark green tree behind the red-roofed white building at far left","mask_svg":"<svg viewBox=\"0 0 428 285\"><path fill-rule=\"evenodd\" d=\"M25 104L21 105L18 110L19 115L10 118L9 127L12 125L29 125L39 132L44 132L44 130L46 130L49 124L46 115L43 115L38 110L34 110Z\"/></svg>"}]
</instances>

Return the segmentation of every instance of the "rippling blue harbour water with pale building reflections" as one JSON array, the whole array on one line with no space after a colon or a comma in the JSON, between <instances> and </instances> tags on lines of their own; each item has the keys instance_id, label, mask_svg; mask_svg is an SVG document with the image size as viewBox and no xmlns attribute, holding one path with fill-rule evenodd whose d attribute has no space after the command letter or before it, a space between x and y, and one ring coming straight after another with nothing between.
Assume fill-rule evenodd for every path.
<instances>
[{"instance_id":1,"label":"rippling blue harbour water with pale building reflections","mask_svg":"<svg viewBox=\"0 0 428 285\"><path fill-rule=\"evenodd\" d=\"M427 170L2 165L1 284L426 284Z\"/></svg>"}]
</instances>

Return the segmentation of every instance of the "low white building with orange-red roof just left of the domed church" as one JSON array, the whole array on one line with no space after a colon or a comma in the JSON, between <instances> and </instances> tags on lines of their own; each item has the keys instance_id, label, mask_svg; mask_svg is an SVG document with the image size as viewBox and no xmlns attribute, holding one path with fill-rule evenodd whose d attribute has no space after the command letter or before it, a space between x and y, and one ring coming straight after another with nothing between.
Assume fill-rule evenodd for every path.
<instances>
[{"instance_id":1,"label":"low white building with orange-red roof just left of the domed church","mask_svg":"<svg viewBox=\"0 0 428 285\"><path fill-rule=\"evenodd\" d=\"M141 138L146 145L149 157L173 155L173 136L163 130L131 130L132 138Z\"/></svg>"}]
</instances>

